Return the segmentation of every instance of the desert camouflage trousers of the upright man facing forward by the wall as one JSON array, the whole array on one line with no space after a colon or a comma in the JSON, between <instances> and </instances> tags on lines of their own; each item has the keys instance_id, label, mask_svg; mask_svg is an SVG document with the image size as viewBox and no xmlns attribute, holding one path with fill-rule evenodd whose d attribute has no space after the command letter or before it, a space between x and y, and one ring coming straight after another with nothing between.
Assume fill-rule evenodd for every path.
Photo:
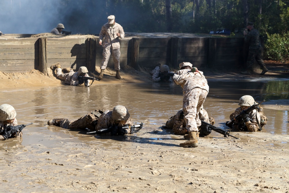
<instances>
[{"instance_id":1,"label":"desert camouflage trousers of the upright man facing forward by the wall","mask_svg":"<svg viewBox=\"0 0 289 193\"><path fill-rule=\"evenodd\" d=\"M119 70L121 69L119 65L119 58L121 57L121 49L112 49L112 46L104 47L103 48L103 58L101 60L101 69L105 70L108 65L108 60L110 58L110 54L112 54L113 61L114 61L114 69Z\"/></svg>"}]
</instances>

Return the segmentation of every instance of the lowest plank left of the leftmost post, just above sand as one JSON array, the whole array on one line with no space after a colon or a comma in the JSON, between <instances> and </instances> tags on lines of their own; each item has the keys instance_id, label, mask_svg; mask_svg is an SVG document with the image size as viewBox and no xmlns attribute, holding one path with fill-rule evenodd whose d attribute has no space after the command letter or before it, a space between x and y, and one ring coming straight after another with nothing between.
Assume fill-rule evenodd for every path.
<instances>
[{"instance_id":1,"label":"lowest plank left of the leftmost post, just above sand","mask_svg":"<svg viewBox=\"0 0 289 193\"><path fill-rule=\"evenodd\" d=\"M34 69L34 60L0 60L0 71L23 71Z\"/></svg>"}]
</instances>

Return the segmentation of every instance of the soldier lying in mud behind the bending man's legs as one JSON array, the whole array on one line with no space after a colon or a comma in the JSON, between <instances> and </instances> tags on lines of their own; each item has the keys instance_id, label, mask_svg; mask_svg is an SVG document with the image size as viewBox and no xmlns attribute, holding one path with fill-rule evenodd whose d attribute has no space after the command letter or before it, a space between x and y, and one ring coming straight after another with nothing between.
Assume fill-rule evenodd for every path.
<instances>
[{"instance_id":1,"label":"soldier lying in mud behind the bending man's legs","mask_svg":"<svg viewBox=\"0 0 289 193\"><path fill-rule=\"evenodd\" d=\"M215 124L215 118L209 117L208 112L203 108L200 109L199 118L200 120L207 122L211 125ZM184 135L185 139L190 139L190 136L188 135L188 130L186 128L183 109L180 109L176 115L170 117L167 120L165 128L172 129L175 135ZM199 132L196 133L197 139L199 139L199 135L201 137L205 136L202 132L203 130L201 126L199 126L198 129Z\"/></svg>"}]
</instances>

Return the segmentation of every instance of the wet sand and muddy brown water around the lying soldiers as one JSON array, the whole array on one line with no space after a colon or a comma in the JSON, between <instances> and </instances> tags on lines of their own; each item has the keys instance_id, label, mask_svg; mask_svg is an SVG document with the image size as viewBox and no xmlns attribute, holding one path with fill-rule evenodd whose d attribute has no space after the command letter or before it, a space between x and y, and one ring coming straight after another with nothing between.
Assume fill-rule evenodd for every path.
<instances>
[{"instance_id":1,"label":"wet sand and muddy brown water around the lying soldiers","mask_svg":"<svg viewBox=\"0 0 289 193\"><path fill-rule=\"evenodd\" d=\"M108 72L113 76L113 71ZM268 90L263 77L250 82L252 78L244 81L240 76L246 89L234 90L226 85L237 84L235 76L227 84L230 75L223 83L216 81L220 79L217 73L206 76L211 90L204 106L221 128L238 107L238 95L249 91L258 102L268 95L279 98L262 105L269 119L265 130L231 132L240 140L212 131L200 138L197 148L181 148L183 136L162 128L181 108L181 88L143 84L150 81L150 75L145 69L141 74L135 76L133 69L127 69L122 80L107 76L89 88L62 85L51 74L4 74L10 76L7 79L0 74L2 82L6 81L1 84L2 103L14 106L19 124L34 122L23 129L22 138L0 141L3 192L289 191L284 92ZM246 82L261 88L248 90ZM140 132L100 137L47 126L53 117L77 119L90 110L112 109L117 104L127 106L134 124L144 123Z\"/></svg>"}]
</instances>

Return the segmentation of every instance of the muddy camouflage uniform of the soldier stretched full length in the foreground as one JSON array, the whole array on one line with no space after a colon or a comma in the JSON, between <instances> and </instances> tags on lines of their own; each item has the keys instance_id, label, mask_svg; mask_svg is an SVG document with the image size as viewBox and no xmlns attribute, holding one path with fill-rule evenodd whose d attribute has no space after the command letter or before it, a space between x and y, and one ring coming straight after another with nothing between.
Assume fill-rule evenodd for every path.
<instances>
[{"instance_id":1,"label":"muddy camouflage uniform of the soldier stretched full length in the foreground","mask_svg":"<svg viewBox=\"0 0 289 193\"><path fill-rule=\"evenodd\" d=\"M90 130L100 130L103 128L109 128L114 125L114 120L112 119L112 111L95 110L91 111L87 115L80 117L76 121L72 121L68 118L65 118L60 121L60 127L65 129L85 129ZM129 118L125 124L133 126L131 119ZM118 123L118 126L123 126ZM125 134L130 134L130 130L126 129Z\"/></svg>"}]
</instances>

